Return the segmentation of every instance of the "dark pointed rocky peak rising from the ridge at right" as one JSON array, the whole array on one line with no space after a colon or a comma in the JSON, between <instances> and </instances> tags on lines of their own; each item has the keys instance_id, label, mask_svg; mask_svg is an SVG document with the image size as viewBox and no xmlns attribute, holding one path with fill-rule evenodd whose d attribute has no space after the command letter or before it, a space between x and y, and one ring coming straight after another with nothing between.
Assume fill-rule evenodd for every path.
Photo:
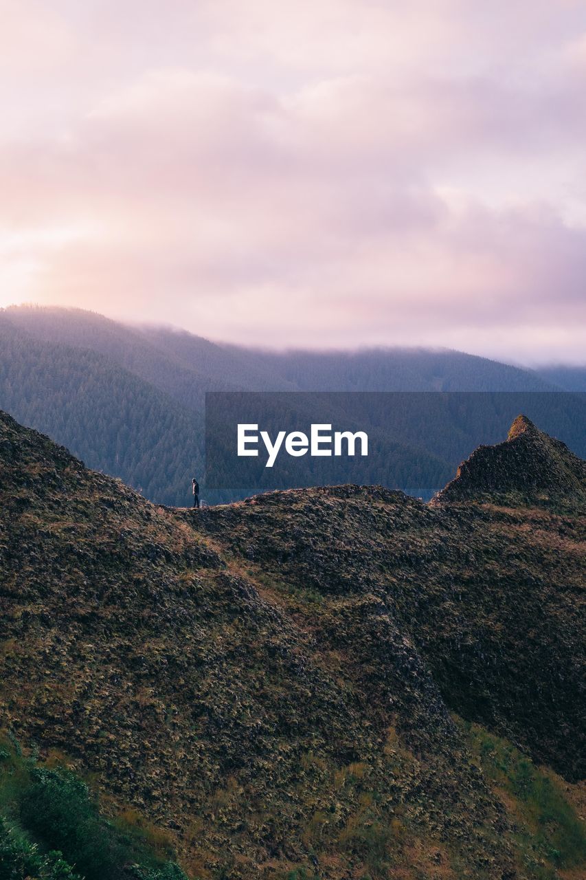
<instances>
[{"instance_id":1,"label":"dark pointed rocky peak rising from the ridge at right","mask_svg":"<svg viewBox=\"0 0 586 880\"><path fill-rule=\"evenodd\" d=\"M519 415L505 443L472 452L436 495L439 502L468 500L583 506L586 463Z\"/></svg>"}]
</instances>

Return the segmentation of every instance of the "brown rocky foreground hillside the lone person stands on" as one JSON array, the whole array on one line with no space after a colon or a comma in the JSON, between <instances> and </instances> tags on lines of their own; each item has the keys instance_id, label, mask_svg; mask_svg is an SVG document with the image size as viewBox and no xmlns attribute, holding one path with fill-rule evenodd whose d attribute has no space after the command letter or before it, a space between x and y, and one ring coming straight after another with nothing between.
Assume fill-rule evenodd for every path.
<instances>
[{"instance_id":1,"label":"brown rocky foreground hillside the lone person stands on","mask_svg":"<svg viewBox=\"0 0 586 880\"><path fill-rule=\"evenodd\" d=\"M473 474L464 503L171 510L0 415L4 752L87 779L201 880L581 876L584 486L513 433L531 485L578 480L563 510L482 479L474 501Z\"/></svg>"}]
</instances>

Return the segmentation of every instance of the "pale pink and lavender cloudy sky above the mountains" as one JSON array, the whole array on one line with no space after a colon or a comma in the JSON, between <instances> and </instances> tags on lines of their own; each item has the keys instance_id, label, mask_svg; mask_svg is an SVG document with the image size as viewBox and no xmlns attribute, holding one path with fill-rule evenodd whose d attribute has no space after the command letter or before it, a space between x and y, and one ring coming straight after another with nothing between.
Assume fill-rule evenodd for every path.
<instances>
[{"instance_id":1,"label":"pale pink and lavender cloudy sky above the mountains","mask_svg":"<svg viewBox=\"0 0 586 880\"><path fill-rule=\"evenodd\" d=\"M586 363L586 0L0 22L0 306Z\"/></svg>"}]
</instances>

